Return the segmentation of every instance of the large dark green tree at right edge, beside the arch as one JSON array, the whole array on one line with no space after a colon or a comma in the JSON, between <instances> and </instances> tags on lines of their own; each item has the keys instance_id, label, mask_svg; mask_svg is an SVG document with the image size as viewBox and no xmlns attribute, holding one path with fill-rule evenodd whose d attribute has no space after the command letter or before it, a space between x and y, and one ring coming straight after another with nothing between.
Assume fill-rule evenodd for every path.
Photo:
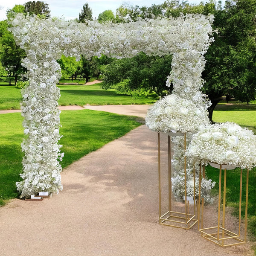
<instances>
[{"instance_id":1,"label":"large dark green tree at right edge, beside the arch","mask_svg":"<svg viewBox=\"0 0 256 256\"><path fill-rule=\"evenodd\" d=\"M223 10L217 6L212 13L218 35L205 55L203 72L203 91L212 102L210 119L223 95L235 96L242 102L255 98L256 0L227 0Z\"/></svg>"}]
</instances>

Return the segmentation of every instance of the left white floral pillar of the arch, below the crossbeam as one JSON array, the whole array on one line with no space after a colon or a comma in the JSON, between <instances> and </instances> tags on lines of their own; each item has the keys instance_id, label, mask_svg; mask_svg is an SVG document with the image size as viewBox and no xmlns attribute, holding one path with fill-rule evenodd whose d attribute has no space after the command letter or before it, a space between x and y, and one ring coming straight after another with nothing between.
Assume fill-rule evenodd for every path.
<instances>
[{"instance_id":1,"label":"left white floral pillar of the arch, below the crossbeam","mask_svg":"<svg viewBox=\"0 0 256 256\"><path fill-rule=\"evenodd\" d=\"M21 104L25 156L23 181L16 183L21 197L62 189L61 165L57 160L63 157L58 144L61 111L58 109L60 90L56 87L60 67L51 58L41 61L29 59L31 57L25 59L30 84L22 91Z\"/></svg>"}]
</instances>

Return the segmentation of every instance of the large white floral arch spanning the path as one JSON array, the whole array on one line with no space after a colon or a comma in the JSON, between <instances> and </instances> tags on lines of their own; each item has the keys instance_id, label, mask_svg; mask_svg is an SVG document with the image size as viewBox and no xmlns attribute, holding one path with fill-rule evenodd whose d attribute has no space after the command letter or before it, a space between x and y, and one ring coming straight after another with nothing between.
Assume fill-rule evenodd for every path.
<instances>
[{"instance_id":1,"label":"large white floral arch spanning the path","mask_svg":"<svg viewBox=\"0 0 256 256\"><path fill-rule=\"evenodd\" d=\"M39 191L57 192L62 189L63 157L58 144L60 90L56 83L61 68L56 59L61 55L87 58L105 54L124 58L145 52L147 55L172 54L172 71L166 85L174 85L173 93L207 107L199 91L203 84L204 53L213 41L213 15L186 15L172 19L137 21L125 24L88 26L74 21L17 15L11 31L17 45L26 51L23 65L27 68L29 86L22 90L24 117L23 181L17 182L21 197Z\"/></svg>"}]
</instances>

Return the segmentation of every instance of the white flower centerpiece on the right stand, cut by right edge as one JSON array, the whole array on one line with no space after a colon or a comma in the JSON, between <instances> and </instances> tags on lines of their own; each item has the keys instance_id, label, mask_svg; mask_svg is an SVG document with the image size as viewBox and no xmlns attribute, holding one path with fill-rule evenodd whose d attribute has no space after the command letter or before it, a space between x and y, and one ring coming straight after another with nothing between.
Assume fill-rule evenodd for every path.
<instances>
[{"instance_id":1,"label":"white flower centerpiece on the right stand, cut by right edge","mask_svg":"<svg viewBox=\"0 0 256 256\"><path fill-rule=\"evenodd\" d=\"M186 155L195 164L216 163L252 169L256 166L256 136L247 128L226 122L200 127Z\"/></svg>"}]
</instances>

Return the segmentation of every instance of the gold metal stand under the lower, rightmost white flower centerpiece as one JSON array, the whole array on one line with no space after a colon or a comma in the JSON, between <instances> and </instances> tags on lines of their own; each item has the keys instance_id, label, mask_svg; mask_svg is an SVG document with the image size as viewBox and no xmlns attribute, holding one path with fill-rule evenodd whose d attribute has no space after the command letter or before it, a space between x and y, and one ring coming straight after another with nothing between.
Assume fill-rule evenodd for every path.
<instances>
[{"instance_id":1,"label":"gold metal stand under the lower, rightmost white flower centerpiece","mask_svg":"<svg viewBox=\"0 0 256 256\"><path fill-rule=\"evenodd\" d=\"M224 167L223 167L224 166ZM201 232L202 236L218 244L221 247L244 244L246 242L246 230L247 230L247 207L248 207L248 179L249 179L249 170L247 169L247 178L246 178L246 199L245 199L245 223L244 223L244 239L241 238L241 198L242 198L242 173L241 169L240 175L240 194L239 194L239 227L238 234L233 233L225 229L225 208L226 208L226 183L227 183L227 165L219 165L220 174L219 174L219 194L218 194L218 225L216 227L203 228L203 214L201 218L201 229L198 230ZM224 188L223 188L223 216L222 216L222 227L220 226L221 218L221 170L224 169ZM199 172L199 192L201 191L201 168ZM200 195L199 195L200 198ZM200 204L198 204L199 211L198 216L200 215ZM204 210L204 202L202 201L202 212Z\"/></svg>"}]
</instances>

